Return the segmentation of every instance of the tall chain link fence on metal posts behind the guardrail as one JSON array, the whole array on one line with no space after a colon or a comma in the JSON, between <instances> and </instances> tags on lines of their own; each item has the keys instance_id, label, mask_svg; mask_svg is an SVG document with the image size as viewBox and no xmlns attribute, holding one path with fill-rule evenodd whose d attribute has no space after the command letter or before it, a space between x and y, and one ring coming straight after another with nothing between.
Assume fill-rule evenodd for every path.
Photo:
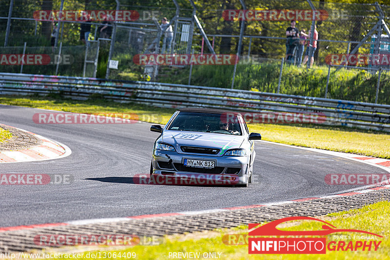
<instances>
[{"instance_id":1,"label":"tall chain link fence on metal posts behind the guardrail","mask_svg":"<svg viewBox=\"0 0 390 260\"><path fill-rule=\"evenodd\" d=\"M7 46L0 47L1 54L22 54L24 49L25 54L74 56L71 65L63 62L24 65L23 73L157 81L390 104L389 66L330 66L328 62L333 54L390 54L390 35L382 23L382 19L385 23L390 21L388 5L244 0L247 10L244 12L239 1L234 4L197 1L194 5L191 1L177 5L166 1L159 6L146 0L137 6L126 0L119 0L119 5L115 0L63 1L62 10L131 10L136 16L130 21L90 22L86 44L81 41L85 22L55 21L60 29L51 47L53 22L36 20L33 13L60 10L61 0L13 0L8 27L10 2L7 0L0 9L0 42ZM314 22L318 40L301 38L303 52L295 40L293 58L286 62L286 29L291 26L291 17L286 12L293 11L298 31L309 34L313 9L320 14ZM252 16L245 17L248 10ZM255 18L255 12L263 16ZM299 12L303 14L299 16ZM163 18L168 19L170 26L162 23ZM100 32L104 26L108 28L106 34ZM239 48L241 26L244 27ZM314 65L308 69L310 59L305 65L300 63L311 40L317 47ZM140 62L142 55L149 55L150 61L153 55L156 58L162 54L166 59L214 52L238 55L237 64ZM20 69L21 65L0 65L0 72L19 73Z\"/></svg>"}]
</instances>

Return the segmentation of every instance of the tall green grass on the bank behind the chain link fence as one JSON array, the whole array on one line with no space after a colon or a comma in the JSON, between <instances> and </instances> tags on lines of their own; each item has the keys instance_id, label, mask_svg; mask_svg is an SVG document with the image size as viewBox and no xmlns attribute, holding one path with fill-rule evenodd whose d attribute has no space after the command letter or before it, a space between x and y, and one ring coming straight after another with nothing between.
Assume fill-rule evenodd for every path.
<instances>
[{"instance_id":1,"label":"tall green grass on the bank behind the chain link fence","mask_svg":"<svg viewBox=\"0 0 390 260\"><path fill-rule=\"evenodd\" d=\"M121 56L122 68L118 79L139 80L143 67L131 63L132 56ZM118 57L117 59L120 59ZM189 67L183 69L160 66L158 82L188 84ZM198 86L230 88L234 66L196 65L193 66L191 82ZM163 71L163 72L161 72ZM234 79L234 89L258 90L260 92L276 93L280 73L280 61L263 61L260 64L238 64ZM297 68L285 65L283 67L280 93L324 97L328 76L328 66L314 65L312 69ZM140 79L142 80L142 79ZM328 98L344 99L361 102L375 102L378 74L367 70L331 69ZM379 104L390 104L390 73L383 72L379 86Z\"/></svg>"}]
</instances>

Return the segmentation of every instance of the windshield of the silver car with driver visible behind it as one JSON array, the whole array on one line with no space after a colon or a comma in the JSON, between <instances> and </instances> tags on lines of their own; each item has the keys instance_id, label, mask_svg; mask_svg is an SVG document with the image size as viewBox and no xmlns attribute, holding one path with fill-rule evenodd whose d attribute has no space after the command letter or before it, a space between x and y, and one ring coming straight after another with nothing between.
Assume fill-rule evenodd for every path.
<instances>
[{"instance_id":1,"label":"windshield of the silver car with driver visible behind it","mask_svg":"<svg viewBox=\"0 0 390 260\"><path fill-rule=\"evenodd\" d=\"M237 116L228 115L229 120L226 117L226 114L179 112L168 130L242 135Z\"/></svg>"}]
</instances>

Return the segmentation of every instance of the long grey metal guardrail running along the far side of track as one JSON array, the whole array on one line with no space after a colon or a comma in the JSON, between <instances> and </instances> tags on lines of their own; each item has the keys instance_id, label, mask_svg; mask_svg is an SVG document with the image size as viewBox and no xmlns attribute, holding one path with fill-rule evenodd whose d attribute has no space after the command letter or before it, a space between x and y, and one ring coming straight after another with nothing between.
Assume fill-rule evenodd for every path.
<instances>
[{"instance_id":1,"label":"long grey metal guardrail running along the far side of track","mask_svg":"<svg viewBox=\"0 0 390 260\"><path fill-rule=\"evenodd\" d=\"M33 93L61 93L73 99L100 94L115 101L166 108L322 113L326 125L390 131L390 105L156 82L0 73L0 94Z\"/></svg>"}]
</instances>

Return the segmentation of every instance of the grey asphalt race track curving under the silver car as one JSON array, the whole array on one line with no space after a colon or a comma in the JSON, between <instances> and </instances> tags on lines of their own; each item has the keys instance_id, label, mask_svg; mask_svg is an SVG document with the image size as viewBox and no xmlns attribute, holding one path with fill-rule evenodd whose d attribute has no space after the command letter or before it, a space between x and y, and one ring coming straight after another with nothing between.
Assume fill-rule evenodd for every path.
<instances>
[{"instance_id":1,"label":"grey asphalt race track curving under the silver car","mask_svg":"<svg viewBox=\"0 0 390 260\"><path fill-rule=\"evenodd\" d=\"M387 173L364 163L313 151L256 143L249 187L137 185L148 173L158 133L148 123L33 122L42 110L0 105L0 122L59 141L68 157L0 164L0 173L72 174L68 185L0 185L0 227L143 214L205 210L318 197L358 186L327 185L330 173ZM348 134L348 132L346 132Z\"/></svg>"}]
</instances>

